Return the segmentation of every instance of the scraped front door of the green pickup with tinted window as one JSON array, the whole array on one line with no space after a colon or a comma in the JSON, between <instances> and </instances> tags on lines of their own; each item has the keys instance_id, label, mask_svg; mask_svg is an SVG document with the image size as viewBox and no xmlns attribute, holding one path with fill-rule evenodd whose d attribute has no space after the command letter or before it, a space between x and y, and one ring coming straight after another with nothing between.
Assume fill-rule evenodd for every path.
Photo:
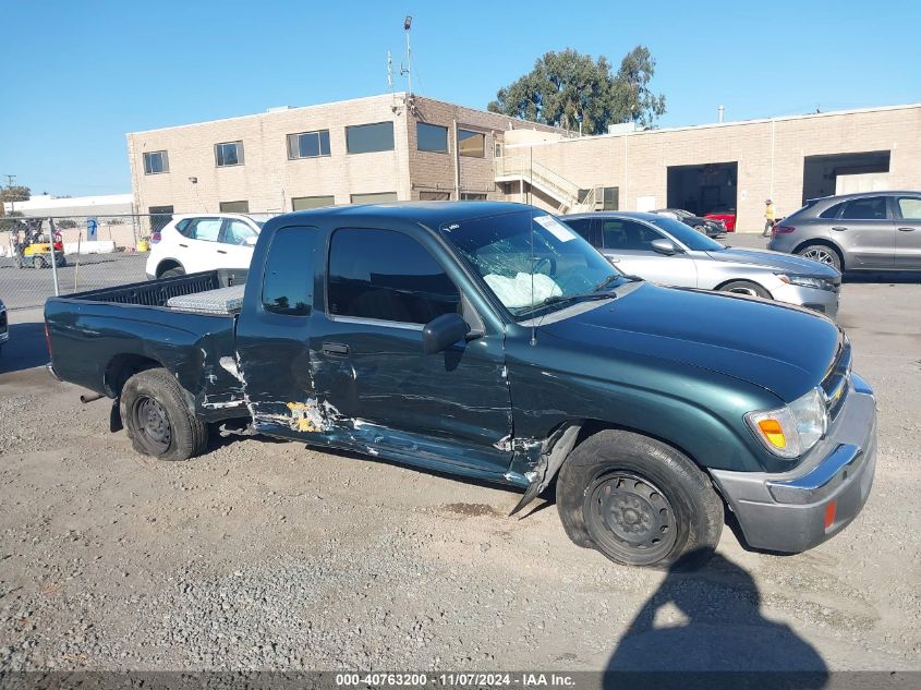
<instances>
[{"instance_id":1,"label":"scraped front door of the green pickup with tinted window","mask_svg":"<svg viewBox=\"0 0 921 690\"><path fill-rule=\"evenodd\" d=\"M332 232L323 326L311 335L317 391L354 420L365 450L502 474L511 452L500 441L512 432L504 334L423 353L423 326L436 316L478 319L431 250L427 235Z\"/></svg>"}]
</instances>

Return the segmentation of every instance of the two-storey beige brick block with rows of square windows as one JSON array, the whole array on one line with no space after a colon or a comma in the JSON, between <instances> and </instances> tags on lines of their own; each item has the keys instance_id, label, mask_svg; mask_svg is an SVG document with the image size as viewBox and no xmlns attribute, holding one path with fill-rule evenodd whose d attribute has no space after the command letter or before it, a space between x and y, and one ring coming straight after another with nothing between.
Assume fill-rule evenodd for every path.
<instances>
[{"instance_id":1,"label":"two-storey beige brick block with rows of square windows","mask_svg":"<svg viewBox=\"0 0 921 690\"><path fill-rule=\"evenodd\" d=\"M407 94L128 135L140 213L281 213L329 204L495 198L512 128L562 132Z\"/></svg>"}]
</instances>

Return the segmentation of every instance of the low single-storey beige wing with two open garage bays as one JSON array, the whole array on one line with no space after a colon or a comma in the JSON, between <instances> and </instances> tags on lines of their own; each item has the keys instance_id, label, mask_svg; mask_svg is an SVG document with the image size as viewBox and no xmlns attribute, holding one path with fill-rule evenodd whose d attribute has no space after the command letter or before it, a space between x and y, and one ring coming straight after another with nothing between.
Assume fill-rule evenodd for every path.
<instances>
[{"instance_id":1,"label":"low single-storey beige wing with two open garage bays","mask_svg":"<svg viewBox=\"0 0 921 690\"><path fill-rule=\"evenodd\" d=\"M744 231L762 228L768 197L783 216L807 198L921 189L921 104L556 142L521 136L506 137L497 179L520 198L530 170L530 198L547 208L559 208L568 186L594 208L736 209Z\"/></svg>"}]
</instances>

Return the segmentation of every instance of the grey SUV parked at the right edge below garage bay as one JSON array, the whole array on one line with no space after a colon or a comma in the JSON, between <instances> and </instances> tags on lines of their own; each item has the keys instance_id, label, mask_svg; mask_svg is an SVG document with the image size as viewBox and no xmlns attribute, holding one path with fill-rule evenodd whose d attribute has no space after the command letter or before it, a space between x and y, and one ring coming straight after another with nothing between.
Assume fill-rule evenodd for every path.
<instances>
[{"instance_id":1,"label":"grey SUV parked at the right edge below garage bay","mask_svg":"<svg viewBox=\"0 0 921 690\"><path fill-rule=\"evenodd\" d=\"M841 271L921 270L921 192L810 199L774 226L767 247Z\"/></svg>"}]
</instances>

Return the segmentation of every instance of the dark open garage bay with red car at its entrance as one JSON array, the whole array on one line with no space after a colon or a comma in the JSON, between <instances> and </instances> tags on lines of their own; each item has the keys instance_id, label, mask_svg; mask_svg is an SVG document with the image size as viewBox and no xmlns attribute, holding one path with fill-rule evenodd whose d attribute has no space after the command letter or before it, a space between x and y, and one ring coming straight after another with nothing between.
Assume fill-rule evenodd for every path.
<instances>
[{"instance_id":1,"label":"dark open garage bay with red car at its entrance","mask_svg":"<svg viewBox=\"0 0 921 690\"><path fill-rule=\"evenodd\" d=\"M668 167L668 207L698 216L736 213L739 164L708 162Z\"/></svg>"}]
</instances>

